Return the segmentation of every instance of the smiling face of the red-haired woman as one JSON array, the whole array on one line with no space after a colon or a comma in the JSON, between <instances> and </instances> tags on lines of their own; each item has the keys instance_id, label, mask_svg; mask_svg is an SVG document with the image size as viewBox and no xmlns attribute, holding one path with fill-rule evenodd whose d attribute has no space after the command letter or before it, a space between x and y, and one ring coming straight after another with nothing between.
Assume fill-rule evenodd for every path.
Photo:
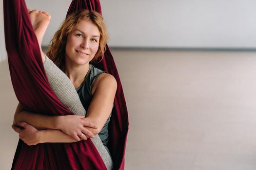
<instances>
[{"instance_id":1,"label":"smiling face of the red-haired woman","mask_svg":"<svg viewBox=\"0 0 256 170\"><path fill-rule=\"evenodd\" d=\"M68 34L66 64L87 65L98 51L100 33L90 20L81 20Z\"/></svg>"}]
</instances>

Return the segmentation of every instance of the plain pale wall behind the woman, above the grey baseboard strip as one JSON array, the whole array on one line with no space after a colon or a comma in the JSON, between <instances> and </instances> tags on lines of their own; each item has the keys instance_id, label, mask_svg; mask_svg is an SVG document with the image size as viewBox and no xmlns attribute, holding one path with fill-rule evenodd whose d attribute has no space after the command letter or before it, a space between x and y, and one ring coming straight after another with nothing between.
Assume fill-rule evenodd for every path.
<instances>
[{"instance_id":1,"label":"plain pale wall behind the woman, above the grey baseboard strip","mask_svg":"<svg viewBox=\"0 0 256 170\"><path fill-rule=\"evenodd\" d=\"M26 0L52 16L43 45L71 0ZM101 0L115 47L256 48L255 0Z\"/></svg>"}]
</instances>

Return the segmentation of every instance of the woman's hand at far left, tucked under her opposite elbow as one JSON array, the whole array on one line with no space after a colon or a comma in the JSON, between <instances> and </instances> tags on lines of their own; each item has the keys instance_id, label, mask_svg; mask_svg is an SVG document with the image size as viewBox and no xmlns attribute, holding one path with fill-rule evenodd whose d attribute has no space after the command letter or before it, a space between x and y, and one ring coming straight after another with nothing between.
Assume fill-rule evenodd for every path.
<instances>
[{"instance_id":1,"label":"woman's hand at far left, tucked under her opposite elbow","mask_svg":"<svg viewBox=\"0 0 256 170\"><path fill-rule=\"evenodd\" d=\"M35 127L24 121L19 122L18 124L23 129L20 129L16 125L12 125L12 128L15 132L20 134L19 137L21 140L23 140L27 145L36 145L40 143L39 131Z\"/></svg>"}]
</instances>

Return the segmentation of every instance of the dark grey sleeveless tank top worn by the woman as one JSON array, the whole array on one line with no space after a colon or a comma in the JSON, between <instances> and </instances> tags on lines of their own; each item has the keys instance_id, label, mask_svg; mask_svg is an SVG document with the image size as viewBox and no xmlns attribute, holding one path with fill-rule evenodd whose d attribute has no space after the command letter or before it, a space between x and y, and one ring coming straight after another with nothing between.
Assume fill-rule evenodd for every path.
<instances>
[{"instance_id":1,"label":"dark grey sleeveless tank top worn by the woman","mask_svg":"<svg viewBox=\"0 0 256 170\"><path fill-rule=\"evenodd\" d=\"M86 74L83 83L76 89L78 92L80 101L84 109L86 110L86 112L93 98L92 87L96 79L98 78L98 76L102 73L105 73L105 72L98 68L95 68L93 65L90 65L89 71ZM108 145L108 123L110 121L110 117L111 117L111 114L98 134L100 140L105 146Z\"/></svg>"}]
</instances>

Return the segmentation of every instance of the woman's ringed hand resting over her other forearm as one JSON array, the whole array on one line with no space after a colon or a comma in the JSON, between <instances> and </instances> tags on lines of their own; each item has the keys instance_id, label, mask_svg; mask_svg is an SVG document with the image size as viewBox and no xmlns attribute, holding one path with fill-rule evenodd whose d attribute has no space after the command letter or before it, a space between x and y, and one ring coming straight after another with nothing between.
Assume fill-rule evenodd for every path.
<instances>
[{"instance_id":1,"label":"woman's ringed hand resting over her other forearm","mask_svg":"<svg viewBox=\"0 0 256 170\"><path fill-rule=\"evenodd\" d=\"M87 140L87 137L94 137L94 134L86 127L97 129L98 127L86 120L84 116L79 115L66 115L59 116L57 119L57 127L65 134L72 136L77 141Z\"/></svg>"}]
</instances>

